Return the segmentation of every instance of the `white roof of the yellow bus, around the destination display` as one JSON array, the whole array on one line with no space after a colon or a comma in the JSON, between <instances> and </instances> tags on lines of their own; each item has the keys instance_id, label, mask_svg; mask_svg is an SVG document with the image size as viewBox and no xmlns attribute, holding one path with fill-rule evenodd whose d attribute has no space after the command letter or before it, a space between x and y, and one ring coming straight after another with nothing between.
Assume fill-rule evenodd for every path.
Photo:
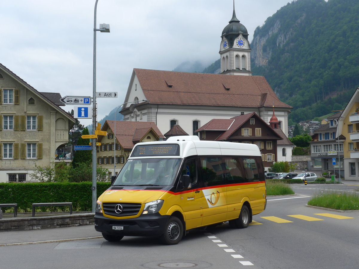
<instances>
[{"instance_id":1,"label":"white roof of the yellow bus, around the destination display","mask_svg":"<svg viewBox=\"0 0 359 269\"><path fill-rule=\"evenodd\" d=\"M173 136L169 137L166 141L152 141L137 143L135 148L142 145L166 145L166 144L177 144L180 146L179 155L164 155L165 157L176 157L184 158L194 155L214 155L214 156L261 156L261 152L257 145L246 144L246 143L235 143L235 142L222 142L222 141L206 141L200 140L198 136ZM160 157L162 155L151 155L141 157ZM137 157L135 157L137 158Z\"/></svg>"}]
</instances>

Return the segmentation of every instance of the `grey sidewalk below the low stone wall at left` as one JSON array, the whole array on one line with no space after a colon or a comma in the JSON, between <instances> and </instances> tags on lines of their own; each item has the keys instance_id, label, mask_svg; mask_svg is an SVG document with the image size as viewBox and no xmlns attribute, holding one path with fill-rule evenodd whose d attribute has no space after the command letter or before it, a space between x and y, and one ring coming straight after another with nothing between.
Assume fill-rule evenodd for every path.
<instances>
[{"instance_id":1,"label":"grey sidewalk below the low stone wall at left","mask_svg":"<svg viewBox=\"0 0 359 269\"><path fill-rule=\"evenodd\" d=\"M79 239L103 238L100 232L95 231L94 225L61 227L28 231L0 232L0 246L8 244L23 245L45 242L62 242Z\"/></svg>"}]
</instances>

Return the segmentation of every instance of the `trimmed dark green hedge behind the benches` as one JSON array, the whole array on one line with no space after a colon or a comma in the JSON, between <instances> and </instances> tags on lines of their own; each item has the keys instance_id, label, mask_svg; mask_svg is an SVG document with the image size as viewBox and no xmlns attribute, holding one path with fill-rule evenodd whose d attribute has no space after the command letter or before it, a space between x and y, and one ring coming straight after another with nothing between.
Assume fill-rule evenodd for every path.
<instances>
[{"instance_id":1,"label":"trimmed dark green hedge behind the benches","mask_svg":"<svg viewBox=\"0 0 359 269\"><path fill-rule=\"evenodd\" d=\"M110 182L97 182L97 197L111 186ZM18 204L18 209L31 212L32 203L72 202L74 211L92 210L92 182L0 183L0 203ZM61 207L64 210L63 207ZM60 209L61 209L60 208ZM43 207L57 211L56 207ZM4 209L3 209L4 211Z\"/></svg>"}]
</instances>

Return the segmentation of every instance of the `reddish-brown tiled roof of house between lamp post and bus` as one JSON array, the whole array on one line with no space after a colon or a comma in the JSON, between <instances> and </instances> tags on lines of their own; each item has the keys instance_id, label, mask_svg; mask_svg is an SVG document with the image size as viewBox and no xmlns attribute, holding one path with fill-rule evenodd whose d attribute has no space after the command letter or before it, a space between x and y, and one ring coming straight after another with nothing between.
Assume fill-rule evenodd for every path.
<instances>
[{"instance_id":1,"label":"reddish-brown tiled roof of house between lamp post and bus","mask_svg":"<svg viewBox=\"0 0 359 269\"><path fill-rule=\"evenodd\" d=\"M106 131L107 126L114 132L115 121L106 121L102 126L102 130ZM164 138L154 122L116 121L116 140L123 148L132 149L136 142L143 139L151 130L153 130L158 137ZM101 141L101 137L102 136L99 137L99 142Z\"/></svg>"}]
</instances>

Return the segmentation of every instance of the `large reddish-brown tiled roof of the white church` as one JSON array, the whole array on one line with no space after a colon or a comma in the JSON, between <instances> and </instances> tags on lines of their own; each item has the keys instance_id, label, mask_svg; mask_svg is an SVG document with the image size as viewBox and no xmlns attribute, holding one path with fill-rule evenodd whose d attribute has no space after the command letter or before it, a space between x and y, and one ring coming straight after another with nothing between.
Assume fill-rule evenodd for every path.
<instances>
[{"instance_id":1,"label":"large reddish-brown tiled roof of the white church","mask_svg":"<svg viewBox=\"0 0 359 269\"><path fill-rule=\"evenodd\" d=\"M134 73L150 104L292 108L278 99L263 76L148 69L134 69Z\"/></svg>"}]
</instances>

